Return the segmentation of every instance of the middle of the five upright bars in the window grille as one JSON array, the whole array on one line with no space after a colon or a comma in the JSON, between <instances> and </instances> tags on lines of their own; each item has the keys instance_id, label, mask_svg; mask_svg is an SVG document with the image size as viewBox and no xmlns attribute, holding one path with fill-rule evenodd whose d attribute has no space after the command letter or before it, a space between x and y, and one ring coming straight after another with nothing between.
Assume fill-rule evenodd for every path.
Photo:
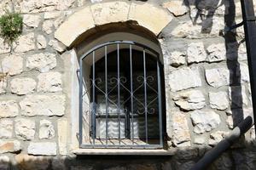
<instances>
[{"instance_id":1,"label":"middle of the five upright bars in the window grille","mask_svg":"<svg viewBox=\"0 0 256 170\"><path fill-rule=\"evenodd\" d=\"M119 114L119 144L121 143L121 130L120 130L120 73L119 73L119 43L117 44L117 52L118 52L118 114Z\"/></svg>"}]
</instances>

